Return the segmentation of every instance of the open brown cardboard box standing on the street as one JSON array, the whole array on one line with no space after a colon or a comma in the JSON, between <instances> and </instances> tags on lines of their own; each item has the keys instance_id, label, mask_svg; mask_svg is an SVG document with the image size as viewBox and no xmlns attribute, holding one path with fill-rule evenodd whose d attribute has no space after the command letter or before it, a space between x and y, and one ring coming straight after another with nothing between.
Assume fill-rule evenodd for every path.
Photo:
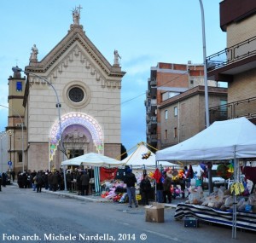
<instances>
[{"instance_id":1,"label":"open brown cardboard box standing on the street","mask_svg":"<svg viewBox=\"0 0 256 243\"><path fill-rule=\"evenodd\" d=\"M146 222L163 223L165 222L165 205L153 203L145 206Z\"/></svg>"}]
</instances>

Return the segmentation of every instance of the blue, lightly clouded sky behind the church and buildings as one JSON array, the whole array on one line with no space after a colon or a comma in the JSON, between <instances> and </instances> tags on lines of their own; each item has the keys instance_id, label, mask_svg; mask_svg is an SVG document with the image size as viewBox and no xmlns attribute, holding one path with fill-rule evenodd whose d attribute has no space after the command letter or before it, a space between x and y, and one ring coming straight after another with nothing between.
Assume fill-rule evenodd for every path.
<instances>
[{"instance_id":1,"label":"blue, lightly clouded sky behind the church and buildings","mask_svg":"<svg viewBox=\"0 0 256 243\"><path fill-rule=\"evenodd\" d=\"M202 0L207 56L225 48L219 27L220 0ZM0 3L0 105L8 106L11 68L28 65L31 48L38 61L67 34L72 10L81 5L80 24L113 64L113 50L126 72L122 81L122 143L129 150L146 142L145 91L150 67L158 62L203 63L199 0L2 0ZM0 107L0 131L8 109Z\"/></svg>"}]
</instances>

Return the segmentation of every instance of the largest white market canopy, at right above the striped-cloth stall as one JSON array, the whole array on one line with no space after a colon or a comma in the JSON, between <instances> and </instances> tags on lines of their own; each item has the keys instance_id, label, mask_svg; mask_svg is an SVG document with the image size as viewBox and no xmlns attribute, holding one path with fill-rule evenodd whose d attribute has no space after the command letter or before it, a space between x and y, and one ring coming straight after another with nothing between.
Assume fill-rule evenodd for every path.
<instances>
[{"instance_id":1,"label":"largest white market canopy, at right above the striped-cloth stall","mask_svg":"<svg viewBox=\"0 0 256 243\"><path fill-rule=\"evenodd\" d=\"M170 148L156 160L221 160L256 158L256 126L246 118L217 121Z\"/></svg>"}]
</instances>

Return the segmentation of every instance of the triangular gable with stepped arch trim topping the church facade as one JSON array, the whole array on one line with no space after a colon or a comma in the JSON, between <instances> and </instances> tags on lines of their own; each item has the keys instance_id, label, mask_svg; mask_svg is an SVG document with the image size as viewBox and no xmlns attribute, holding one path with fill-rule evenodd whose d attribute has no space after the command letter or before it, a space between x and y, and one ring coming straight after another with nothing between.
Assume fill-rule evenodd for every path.
<instances>
[{"instance_id":1,"label":"triangular gable with stepped arch trim topping the church facade","mask_svg":"<svg viewBox=\"0 0 256 243\"><path fill-rule=\"evenodd\" d=\"M74 46L76 46L75 49ZM31 61L30 65L26 67L26 71L47 73L58 66L58 70L61 72L61 66L67 66L67 55L69 61L72 61L73 58L80 58L86 68L101 70L100 72L104 73L104 76L122 78L125 75L120 67L112 66L102 53L96 49L96 46L85 35L83 26L73 25L67 36L42 61ZM91 72L93 73L93 71Z\"/></svg>"}]
</instances>

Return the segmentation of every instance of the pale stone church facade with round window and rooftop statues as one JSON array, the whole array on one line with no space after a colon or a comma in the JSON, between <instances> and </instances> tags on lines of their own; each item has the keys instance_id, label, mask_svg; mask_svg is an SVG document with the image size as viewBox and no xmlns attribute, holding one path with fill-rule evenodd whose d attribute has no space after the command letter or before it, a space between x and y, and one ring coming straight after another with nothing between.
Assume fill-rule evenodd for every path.
<instances>
[{"instance_id":1,"label":"pale stone church facade with round window and rooftop statues","mask_svg":"<svg viewBox=\"0 0 256 243\"><path fill-rule=\"evenodd\" d=\"M114 50L111 65L86 36L79 19L80 9L73 9L67 35L42 61L38 61L38 48L33 45L25 68L26 84L19 72L9 78L9 83L20 78L26 85L20 107L24 109L20 112L25 170L58 170L61 161L90 152L119 159L120 91L125 72L119 66L118 52ZM15 104L16 96L11 96L9 105ZM11 120L9 117L9 129L20 131ZM16 146L14 159L18 159L20 142Z\"/></svg>"}]
</instances>

